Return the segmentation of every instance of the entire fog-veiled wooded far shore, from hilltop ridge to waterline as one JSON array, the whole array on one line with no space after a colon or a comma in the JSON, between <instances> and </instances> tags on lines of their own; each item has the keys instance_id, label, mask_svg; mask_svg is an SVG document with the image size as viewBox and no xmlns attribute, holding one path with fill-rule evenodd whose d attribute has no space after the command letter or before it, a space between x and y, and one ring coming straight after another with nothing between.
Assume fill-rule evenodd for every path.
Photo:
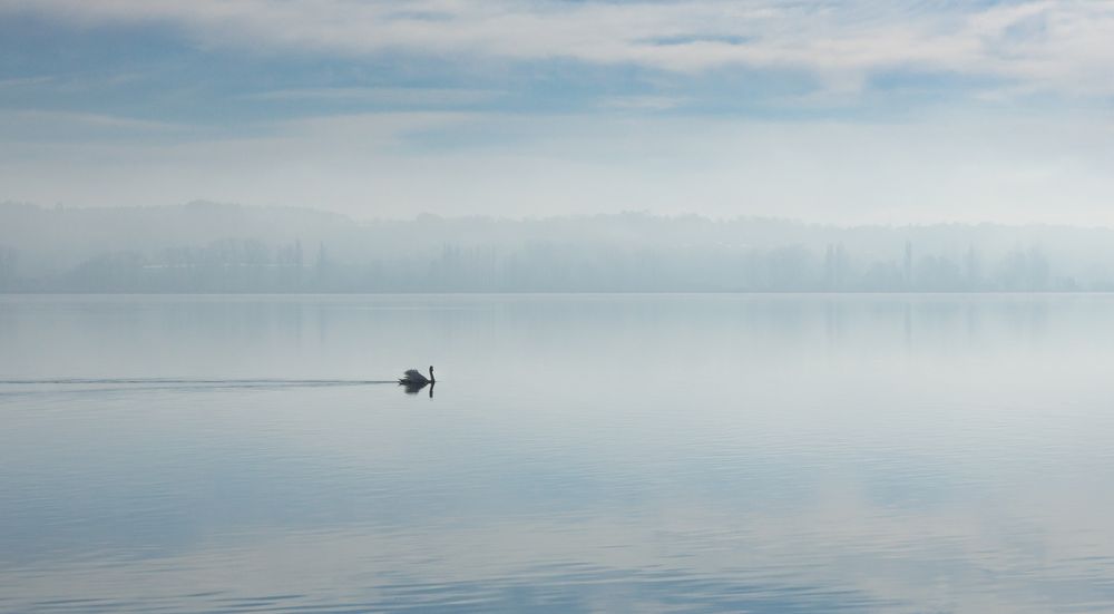
<instances>
[{"instance_id":1,"label":"entire fog-veiled wooded far shore, from hilltop ridge to waterline","mask_svg":"<svg viewBox=\"0 0 1114 614\"><path fill-rule=\"evenodd\" d=\"M1114 232L1091 228L0 205L0 292L1111 291L1112 272Z\"/></svg>"}]
</instances>

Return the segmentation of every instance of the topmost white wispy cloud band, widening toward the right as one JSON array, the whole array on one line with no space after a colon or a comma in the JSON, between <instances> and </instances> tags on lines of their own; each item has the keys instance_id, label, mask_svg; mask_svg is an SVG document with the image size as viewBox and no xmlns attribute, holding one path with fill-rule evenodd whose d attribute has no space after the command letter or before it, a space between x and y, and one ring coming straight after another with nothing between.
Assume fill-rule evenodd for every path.
<instances>
[{"instance_id":1,"label":"topmost white wispy cloud band, widening toward the right","mask_svg":"<svg viewBox=\"0 0 1114 614\"><path fill-rule=\"evenodd\" d=\"M1114 92L1114 1L878 7L861 0L7 0L0 10L97 23L179 25L205 46L505 61L571 59L672 72L732 66L808 70L833 90L910 68L998 77L1067 94Z\"/></svg>"}]
</instances>

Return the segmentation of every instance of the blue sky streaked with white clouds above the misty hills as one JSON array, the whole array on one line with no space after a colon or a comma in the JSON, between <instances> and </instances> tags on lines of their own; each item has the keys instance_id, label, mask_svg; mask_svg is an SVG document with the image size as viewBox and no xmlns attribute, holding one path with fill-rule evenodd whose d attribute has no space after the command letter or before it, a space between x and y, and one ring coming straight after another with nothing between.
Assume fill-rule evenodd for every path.
<instances>
[{"instance_id":1,"label":"blue sky streaked with white clouds above the misty hills","mask_svg":"<svg viewBox=\"0 0 1114 614\"><path fill-rule=\"evenodd\" d=\"M1114 1L0 0L0 202L1114 226Z\"/></svg>"}]
</instances>

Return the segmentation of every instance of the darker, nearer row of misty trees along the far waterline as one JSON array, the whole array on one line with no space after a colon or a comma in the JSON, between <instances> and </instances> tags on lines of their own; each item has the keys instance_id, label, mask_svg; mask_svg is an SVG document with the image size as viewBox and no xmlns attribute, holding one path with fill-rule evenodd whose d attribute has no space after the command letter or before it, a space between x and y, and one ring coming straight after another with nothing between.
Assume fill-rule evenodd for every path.
<instances>
[{"instance_id":1,"label":"darker, nearer row of misty trees along the far waterline","mask_svg":"<svg viewBox=\"0 0 1114 614\"><path fill-rule=\"evenodd\" d=\"M993 292L1110 290L1057 275L1038 247L984 263L961 259L857 257L842 244L822 253L800 245L770 250L613 251L606 245L534 243L516 250L444 245L428 257L340 262L319 244L267 245L223 238L154 253L113 251L56 275L19 274L19 253L0 246L0 290L8 292Z\"/></svg>"}]
</instances>

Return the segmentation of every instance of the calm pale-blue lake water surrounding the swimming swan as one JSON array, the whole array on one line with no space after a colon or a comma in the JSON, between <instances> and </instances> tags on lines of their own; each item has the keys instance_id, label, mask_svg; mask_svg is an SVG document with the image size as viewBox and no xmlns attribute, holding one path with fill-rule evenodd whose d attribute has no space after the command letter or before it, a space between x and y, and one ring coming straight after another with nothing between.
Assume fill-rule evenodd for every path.
<instances>
[{"instance_id":1,"label":"calm pale-blue lake water surrounding the swimming swan","mask_svg":"<svg viewBox=\"0 0 1114 614\"><path fill-rule=\"evenodd\" d=\"M3 612L1114 611L1114 296L7 296L0 380Z\"/></svg>"}]
</instances>

